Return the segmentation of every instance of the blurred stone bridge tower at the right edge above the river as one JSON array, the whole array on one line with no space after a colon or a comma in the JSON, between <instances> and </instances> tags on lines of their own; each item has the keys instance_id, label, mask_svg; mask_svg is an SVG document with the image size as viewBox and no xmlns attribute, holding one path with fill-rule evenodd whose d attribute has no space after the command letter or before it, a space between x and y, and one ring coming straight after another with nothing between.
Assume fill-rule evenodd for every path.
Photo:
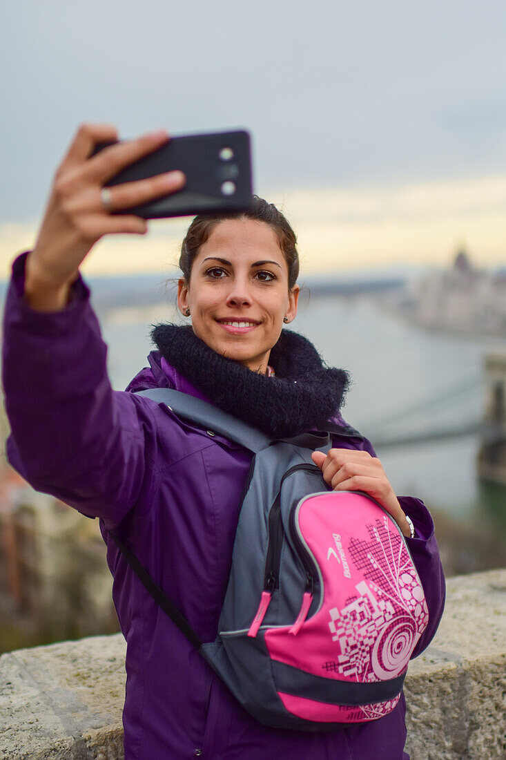
<instances>
[{"instance_id":1,"label":"blurred stone bridge tower at the right edge above the river","mask_svg":"<svg viewBox=\"0 0 506 760\"><path fill-rule=\"evenodd\" d=\"M506 486L506 354L485 356L487 397L477 469L482 480Z\"/></svg>"}]
</instances>

